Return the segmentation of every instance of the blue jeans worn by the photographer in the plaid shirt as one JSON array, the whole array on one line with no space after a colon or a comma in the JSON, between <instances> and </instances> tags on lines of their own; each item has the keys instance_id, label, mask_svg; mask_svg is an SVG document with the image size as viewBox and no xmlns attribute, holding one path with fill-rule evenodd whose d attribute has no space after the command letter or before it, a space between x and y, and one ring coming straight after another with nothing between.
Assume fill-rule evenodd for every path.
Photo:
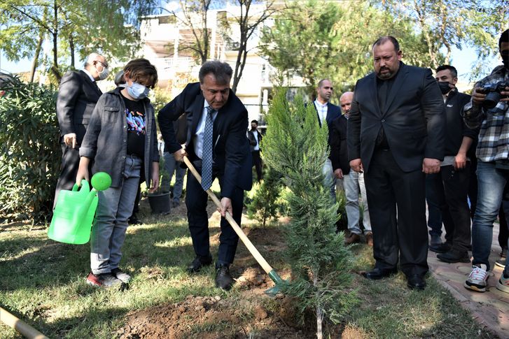
<instances>
[{"instance_id":1,"label":"blue jeans worn by the photographer in the plaid shirt","mask_svg":"<svg viewBox=\"0 0 509 339\"><path fill-rule=\"evenodd\" d=\"M484 264L488 270L493 223L498 215L503 187L508 179L509 172L495 168L494 163L477 163L477 208L472 224L472 264ZM509 272L508 264L505 265L505 272Z\"/></svg>"}]
</instances>

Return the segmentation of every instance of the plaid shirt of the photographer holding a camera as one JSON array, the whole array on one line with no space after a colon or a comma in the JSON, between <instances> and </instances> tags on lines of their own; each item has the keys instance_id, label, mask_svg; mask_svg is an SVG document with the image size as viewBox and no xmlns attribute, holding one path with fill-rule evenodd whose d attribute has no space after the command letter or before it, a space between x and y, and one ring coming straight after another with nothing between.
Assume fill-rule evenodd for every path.
<instances>
[{"instance_id":1,"label":"plaid shirt of the photographer holding a camera","mask_svg":"<svg viewBox=\"0 0 509 339\"><path fill-rule=\"evenodd\" d=\"M477 82L475 87L493 84L498 81L509 81L509 71L504 66L497 66L486 78ZM498 101L494 108L485 110L475 106L470 99L463 107L463 119L467 127L480 128L479 143L475 155L477 159L490 162L509 159L509 103Z\"/></svg>"}]
</instances>

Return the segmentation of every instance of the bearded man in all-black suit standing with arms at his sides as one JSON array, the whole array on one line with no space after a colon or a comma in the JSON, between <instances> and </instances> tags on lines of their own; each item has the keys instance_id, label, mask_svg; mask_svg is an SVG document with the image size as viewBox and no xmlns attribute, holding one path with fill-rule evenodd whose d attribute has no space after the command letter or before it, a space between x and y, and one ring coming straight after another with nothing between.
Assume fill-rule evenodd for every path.
<instances>
[{"instance_id":1,"label":"bearded man in all-black suit standing with arms at his sides","mask_svg":"<svg viewBox=\"0 0 509 339\"><path fill-rule=\"evenodd\" d=\"M396 38L382 36L372 53L375 73L356 84L347 132L350 167L365 171L370 206L376 264L365 277L396 273L399 259L408 287L424 289L424 175L440 171L444 157L444 103L430 69L400 62Z\"/></svg>"}]
</instances>

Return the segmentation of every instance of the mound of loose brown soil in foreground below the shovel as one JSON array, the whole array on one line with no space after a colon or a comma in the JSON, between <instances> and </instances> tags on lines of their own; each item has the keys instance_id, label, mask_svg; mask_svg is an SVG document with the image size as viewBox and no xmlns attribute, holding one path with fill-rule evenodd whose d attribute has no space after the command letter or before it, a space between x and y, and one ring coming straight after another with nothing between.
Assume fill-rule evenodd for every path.
<instances>
[{"instance_id":1,"label":"mound of loose brown soil in foreground below the shovel","mask_svg":"<svg viewBox=\"0 0 509 339\"><path fill-rule=\"evenodd\" d=\"M293 326L295 309L288 298L230 301L221 296L188 296L180 303L132 312L117 332L120 338L314 338Z\"/></svg>"}]
</instances>

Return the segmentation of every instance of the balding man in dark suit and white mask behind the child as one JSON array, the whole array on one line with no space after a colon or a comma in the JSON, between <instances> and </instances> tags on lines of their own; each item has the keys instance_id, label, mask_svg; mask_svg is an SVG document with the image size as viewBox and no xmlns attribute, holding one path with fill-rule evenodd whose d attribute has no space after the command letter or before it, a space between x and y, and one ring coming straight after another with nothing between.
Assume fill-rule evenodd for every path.
<instances>
[{"instance_id":1,"label":"balding man in dark suit and white mask behind the child","mask_svg":"<svg viewBox=\"0 0 509 339\"><path fill-rule=\"evenodd\" d=\"M102 95L96 81L106 79L108 74L106 59L102 55L92 53L81 71L68 71L60 81L57 117L62 145L62 166L53 207L57 203L60 190L72 189L75 183L80 163L81 141L87 131L92 110Z\"/></svg>"}]
</instances>

